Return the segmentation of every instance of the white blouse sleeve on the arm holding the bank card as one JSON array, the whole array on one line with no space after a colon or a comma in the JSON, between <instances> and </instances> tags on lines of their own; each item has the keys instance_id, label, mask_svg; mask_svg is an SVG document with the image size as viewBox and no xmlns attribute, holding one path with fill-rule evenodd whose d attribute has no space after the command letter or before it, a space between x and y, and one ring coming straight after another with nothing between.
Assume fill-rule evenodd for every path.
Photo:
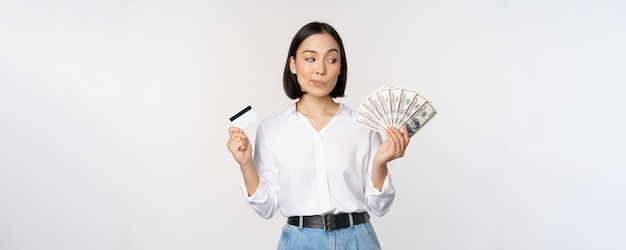
<instances>
[{"instance_id":1,"label":"white blouse sleeve on the arm holding the bank card","mask_svg":"<svg viewBox=\"0 0 626 250\"><path fill-rule=\"evenodd\" d=\"M267 145L264 125L260 123L257 128L254 148L254 165L261 182L251 196L247 195L245 184L241 185L242 192L252 209L265 219L269 219L278 210L278 180L279 173L274 164L271 148Z\"/></svg>"}]
</instances>

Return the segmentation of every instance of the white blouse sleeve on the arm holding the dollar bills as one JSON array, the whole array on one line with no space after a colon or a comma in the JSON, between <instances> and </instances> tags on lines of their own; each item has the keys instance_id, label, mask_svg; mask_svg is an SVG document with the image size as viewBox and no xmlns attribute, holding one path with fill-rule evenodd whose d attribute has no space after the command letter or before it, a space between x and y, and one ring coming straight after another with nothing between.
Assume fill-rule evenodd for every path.
<instances>
[{"instance_id":1,"label":"white blouse sleeve on the arm holding the dollar bills","mask_svg":"<svg viewBox=\"0 0 626 250\"><path fill-rule=\"evenodd\" d=\"M385 177L385 182L383 183L383 188L381 191L378 191L374 187L374 183L372 182L372 164L374 162L374 156L376 155L376 151L378 147L382 144L382 139L380 135L376 132L370 133L370 155L368 160L367 174L366 176L366 187L365 187L365 200L367 203L367 207L369 210L374 213L376 216L383 216L389 209L391 209L391 204L393 203L393 199L395 198L395 189L393 184L391 183L391 175L387 172L387 176Z\"/></svg>"}]
</instances>

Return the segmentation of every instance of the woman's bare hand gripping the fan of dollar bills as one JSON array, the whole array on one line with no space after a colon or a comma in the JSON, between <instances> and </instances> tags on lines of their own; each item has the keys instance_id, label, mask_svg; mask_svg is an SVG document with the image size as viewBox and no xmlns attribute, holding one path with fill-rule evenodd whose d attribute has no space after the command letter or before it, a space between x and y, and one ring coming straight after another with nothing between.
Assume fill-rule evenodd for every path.
<instances>
[{"instance_id":1,"label":"woman's bare hand gripping the fan of dollar bills","mask_svg":"<svg viewBox=\"0 0 626 250\"><path fill-rule=\"evenodd\" d=\"M388 127L387 140L376 151L374 164L387 164L387 162L404 156L404 150L409 145L409 141L409 131L406 126L402 127L402 131L394 127Z\"/></svg>"}]
</instances>

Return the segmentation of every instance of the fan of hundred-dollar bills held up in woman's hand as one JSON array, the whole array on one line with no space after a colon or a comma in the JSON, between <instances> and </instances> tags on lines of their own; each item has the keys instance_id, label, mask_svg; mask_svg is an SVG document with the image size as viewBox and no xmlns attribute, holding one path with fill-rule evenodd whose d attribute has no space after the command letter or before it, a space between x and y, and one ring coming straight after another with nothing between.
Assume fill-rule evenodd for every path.
<instances>
[{"instance_id":1,"label":"fan of hundred-dollar bills held up in woman's hand","mask_svg":"<svg viewBox=\"0 0 626 250\"><path fill-rule=\"evenodd\" d=\"M413 136L437 113L420 92L408 87L383 87L374 91L359 107L356 122L385 134L387 127L406 125Z\"/></svg>"}]
</instances>

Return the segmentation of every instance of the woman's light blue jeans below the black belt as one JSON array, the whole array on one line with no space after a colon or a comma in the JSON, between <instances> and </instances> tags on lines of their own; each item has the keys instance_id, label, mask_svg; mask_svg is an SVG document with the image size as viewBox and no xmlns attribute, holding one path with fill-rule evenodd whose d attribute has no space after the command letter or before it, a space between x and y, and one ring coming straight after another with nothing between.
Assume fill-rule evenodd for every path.
<instances>
[{"instance_id":1,"label":"woman's light blue jeans below the black belt","mask_svg":"<svg viewBox=\"0 0 626 250\"><path fill-rule=\"evenodd\" d=\"M369 221L329 232L287 224L278 243L278 250L283 249L380 250L380 243Z\"/></svg>"}]
</instances>

